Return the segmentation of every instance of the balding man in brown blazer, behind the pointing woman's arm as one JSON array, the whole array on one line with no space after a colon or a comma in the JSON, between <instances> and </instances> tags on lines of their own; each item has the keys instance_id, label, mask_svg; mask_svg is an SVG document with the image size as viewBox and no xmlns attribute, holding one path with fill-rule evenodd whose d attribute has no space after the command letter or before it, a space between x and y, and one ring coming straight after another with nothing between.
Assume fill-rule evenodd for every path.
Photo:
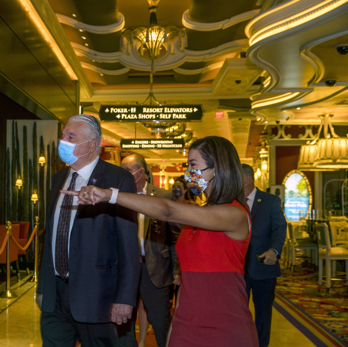
<instances>
[{"instance_id":1,"label":"balding man in brown blazer, behind the pointing woman's arm","mask_svg":"<svg viewBox=\"0 0 348 347\"><path fill-rule=\"evenodd\" d=\"M133 174L138 194L155 195L170 199L170 191L147 182L150 172L147 169L145 159L140 154L126 156L122 160L121 166ZM174 232L176 225L139 213L138 224L140 259L142 261L139 294L143 299L148 319L155 330L157 345L158 347L164 347L172 319L171 305L169 304L169 286L172 283L178 285L181 283L181 271L175 251L178 233ZM136 310L133 313L133 322L119 327L120 339L118 346L137 346L134 331L135 319ZM128 331L122 331L127 325L129 325Z\"/></svg>"}]
</instances>

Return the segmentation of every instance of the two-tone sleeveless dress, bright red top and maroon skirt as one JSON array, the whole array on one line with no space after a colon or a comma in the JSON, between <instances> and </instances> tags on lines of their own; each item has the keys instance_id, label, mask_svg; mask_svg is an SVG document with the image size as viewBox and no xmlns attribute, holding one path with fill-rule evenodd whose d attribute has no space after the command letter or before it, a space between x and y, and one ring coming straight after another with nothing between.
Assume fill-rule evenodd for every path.
<instances>
[{"instance_id":1,"label":"two-tone sleeveless dress, bright red top and maroon skirt","mask_svg":"<svg viewBox=\"0 0 348 347\"><path fill-rule=\"evenodd\" d=\"M230 205L246 211L237 200ZM168 347L259 346L244 281L250 235L251 222L242 241L183 227L176 243L182 284Z\"/></svg>"}]
</instances>

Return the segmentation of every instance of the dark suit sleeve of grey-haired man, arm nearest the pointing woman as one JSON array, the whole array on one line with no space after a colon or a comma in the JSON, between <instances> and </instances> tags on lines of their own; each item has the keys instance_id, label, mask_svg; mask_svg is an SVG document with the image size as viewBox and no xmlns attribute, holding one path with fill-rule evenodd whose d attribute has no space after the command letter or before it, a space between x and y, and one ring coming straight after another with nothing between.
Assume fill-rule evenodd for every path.
<instances>
[{"instance_id":1,"label":"dark suit sleeve of grey-haired man, arm nearest the pointing woman","mask_svg":"<svg viewBox=\"0 0 348 347\"><path fill-rule=\"evenodd\" d=\"M133 177L127 175L119 189L121 192L135 193ZM118 271L114 302L135 307L140 276L137 214L117 204L115 209Z\"/></svg>"}]
</instances>

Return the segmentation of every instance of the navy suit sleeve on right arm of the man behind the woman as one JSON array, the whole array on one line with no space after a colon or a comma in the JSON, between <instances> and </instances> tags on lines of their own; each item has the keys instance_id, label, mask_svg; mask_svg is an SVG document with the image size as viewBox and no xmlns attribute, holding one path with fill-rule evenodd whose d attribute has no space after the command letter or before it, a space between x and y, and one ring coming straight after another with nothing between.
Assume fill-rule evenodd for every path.
<instances>
[{"instance_id":1,"label":"navy suit sleeve on right arm of the man behind the woman","mask_svg":"<svg viewBox=\"0 0 348 347\"><path fill-rule=\"evenodd\" d=\"M278 258L282 253L286 237L286 219L282 209L282 202L275 196L271 208L271 244L270 248L277 250Z\"/></svg>"}]
</instances>

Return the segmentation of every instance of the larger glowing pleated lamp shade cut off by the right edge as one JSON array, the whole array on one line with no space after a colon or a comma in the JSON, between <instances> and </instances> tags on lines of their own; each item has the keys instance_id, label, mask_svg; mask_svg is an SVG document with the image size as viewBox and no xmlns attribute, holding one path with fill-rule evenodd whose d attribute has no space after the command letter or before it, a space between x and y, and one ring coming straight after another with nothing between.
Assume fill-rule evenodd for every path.
<instances>
[{"instance_id":1,"label":"larger glowing pleated lamp shade cut off by the right edge","mask_svg":"<svg viewBox=\"0 0 348 347\"><path fill-rule=\"evenodd\" d=\"M318 140L314 166L319 169L348 168L348 137Z\"/></svg>"}]
</instances>

